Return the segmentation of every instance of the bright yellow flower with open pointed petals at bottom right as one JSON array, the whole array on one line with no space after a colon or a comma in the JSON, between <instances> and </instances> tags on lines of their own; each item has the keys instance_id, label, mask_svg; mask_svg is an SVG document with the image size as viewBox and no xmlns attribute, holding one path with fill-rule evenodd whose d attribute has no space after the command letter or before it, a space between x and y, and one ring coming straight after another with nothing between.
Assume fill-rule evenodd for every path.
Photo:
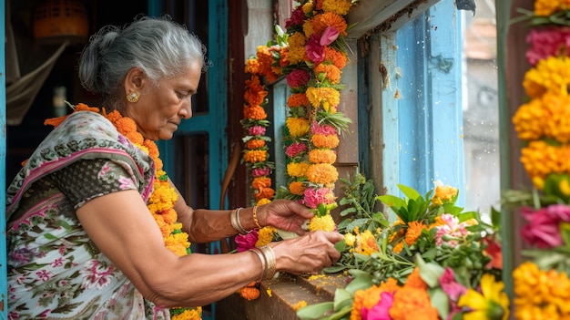
<instances>
[{"instance_id":1,"label":"bright yellow flower with open pointed petals at bottom right","mask_svg":"<svg viewBox=\"0 0 570 320\"><path fill-rule=\"evenodd\" d=\"M509 318L509 297L504 292L503 282L495 282L493 274L483 274L481 277L481 293L467 289L457 306L469 307L472 311L463 315L465 320Z\"/></svg>"}]
</instances>

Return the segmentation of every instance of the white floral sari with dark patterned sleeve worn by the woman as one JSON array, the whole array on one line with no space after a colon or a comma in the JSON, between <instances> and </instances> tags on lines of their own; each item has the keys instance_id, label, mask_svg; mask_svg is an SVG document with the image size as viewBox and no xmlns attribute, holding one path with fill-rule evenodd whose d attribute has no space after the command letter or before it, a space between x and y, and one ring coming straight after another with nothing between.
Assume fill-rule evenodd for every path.
<instances>
[{"instance_id":1,"label":"white floral sari with dark patterned sleeve worn by the woman","mask_svg":"<svg viewBox=\"0 0 570 320\"><path fill-rule=\"evenodd\" d=\"M87 201L152 191L154 162L96 112L76 112L6 194L8 319L169 319L101 253L76 217ZM140 214L149 214L140 212Z\"/></svg>"}]
</instances>

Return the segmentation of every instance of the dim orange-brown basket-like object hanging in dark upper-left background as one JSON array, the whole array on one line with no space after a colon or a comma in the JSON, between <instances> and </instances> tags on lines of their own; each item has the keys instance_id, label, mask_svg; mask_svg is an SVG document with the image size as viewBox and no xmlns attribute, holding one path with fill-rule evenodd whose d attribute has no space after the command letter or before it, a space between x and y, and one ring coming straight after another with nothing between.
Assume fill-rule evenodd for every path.
<instances>
[{"instance_id":1,"label":"dim orange-brown basket-like object hanging in dark upper-left background","mask_svg":"<svg viewBox=\"0 0 570 320\"><path fill-rule=\"evenodd\" d=\"M89 32L87 10L77 0L44 0L34 12L34 38L57 43L85 42Z\"/></svg>"}]
</instances>

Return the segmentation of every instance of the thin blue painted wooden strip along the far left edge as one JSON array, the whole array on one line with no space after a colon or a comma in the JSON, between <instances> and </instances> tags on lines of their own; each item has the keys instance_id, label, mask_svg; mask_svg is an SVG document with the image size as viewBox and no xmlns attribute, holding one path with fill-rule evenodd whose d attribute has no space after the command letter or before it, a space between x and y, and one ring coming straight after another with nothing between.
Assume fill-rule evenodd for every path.
<instances>
[{"instance_id":1,"label":"thin blue painted wooden strip along the far left edge","mask_svg":"<svg viewBox=\"0 0 570 320\"><path fill-rule=\"evenodd\" d=\"M0 17L5 21L5 0L0 0ZM0 39L5 39L5 24L0 24ZM6 269L6 237L5 237L5 160L6 160L6 79L5 79L5 41L0 41L0 319L7 319L8 295L7 295L7 269Z\"/></svg>"}]
</instances>

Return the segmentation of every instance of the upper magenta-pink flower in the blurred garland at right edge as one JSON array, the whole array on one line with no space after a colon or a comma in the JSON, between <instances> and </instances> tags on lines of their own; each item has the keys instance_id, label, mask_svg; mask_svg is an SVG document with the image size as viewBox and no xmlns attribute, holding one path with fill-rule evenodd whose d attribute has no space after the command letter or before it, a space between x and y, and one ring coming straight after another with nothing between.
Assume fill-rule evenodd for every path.
<instances>
[{"instance_id":1,"label":"upper magenta-pink flower in the blurred garland at right edge","mask_svg":"<svg viewBox=\"0 0 570 320\"><path fill-rule=\"evenodd\" d=\"M531 65L551 56L567 56L570 49L570 28L548 27L532 29L526 36L531 47L526 51L526 60Z\"/></svg>"}]
</instances>

